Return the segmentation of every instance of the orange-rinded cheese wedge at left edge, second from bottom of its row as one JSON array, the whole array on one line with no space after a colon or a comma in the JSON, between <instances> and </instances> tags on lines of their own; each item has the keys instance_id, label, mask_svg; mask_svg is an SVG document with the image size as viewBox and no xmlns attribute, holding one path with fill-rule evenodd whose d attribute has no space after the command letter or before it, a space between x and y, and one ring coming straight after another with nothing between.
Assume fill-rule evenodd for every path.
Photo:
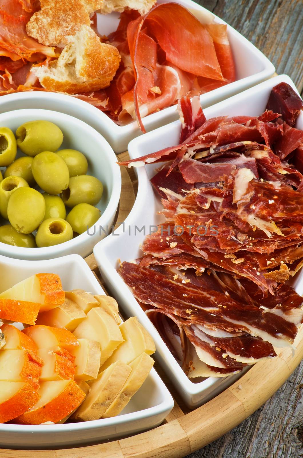
<instances>
[{"instance_id":1,"label":"orange-rinded cheese wedge at left edge, second from bottom of its row","mask_svg":"<svg viewBox=\"0 0 303 458\"><path fill-rule=\"evenodd\" d=\"M0 351L0 381L28 382L37 390L43 361L27 350Z\"/></svg>"}]
</instances>

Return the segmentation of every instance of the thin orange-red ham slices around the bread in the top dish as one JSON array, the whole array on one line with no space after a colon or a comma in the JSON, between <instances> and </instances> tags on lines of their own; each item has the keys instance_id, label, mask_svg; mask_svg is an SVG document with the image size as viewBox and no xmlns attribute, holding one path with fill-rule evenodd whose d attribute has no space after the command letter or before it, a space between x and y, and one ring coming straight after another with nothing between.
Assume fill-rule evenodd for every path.
<instances>
[{"instance_id":1,"label":"thin orange-red ham slices around the bread in the top dish","mask_svg":"<svg viewBox=\"0 0 303 458\"><path fill-rule=\"evenodd\" d=\"M26 32L37 0L0 0L0 95L45 90L31 72L48 65L62 49L39 44ZM71 94L105 111L118 124L175 104L182 96L202 94L235 80L227 26L205 18L202 24L176 3L155 5L145 15L125 10L117 30L100 37L122 57L110 86ZM96 15L92 27L97 31Z\"/></svg>"}]
</instances>

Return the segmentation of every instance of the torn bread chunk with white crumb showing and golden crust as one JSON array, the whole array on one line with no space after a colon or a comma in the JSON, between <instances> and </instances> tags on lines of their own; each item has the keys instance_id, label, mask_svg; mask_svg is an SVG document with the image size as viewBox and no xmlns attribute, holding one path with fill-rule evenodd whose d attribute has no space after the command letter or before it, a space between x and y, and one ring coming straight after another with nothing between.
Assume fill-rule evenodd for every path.
<instances>
[{"instance_id":1,"label":"torn bread chunk with white crumb showing and golden crust","mask_svg":"<svg viewBox=\"0 0 303 458\"><path fill-rule=\"evenodd\" d=\"M83 25L73 37L68 37L58 60L49 66L32 68L40 84L49 91L97 91L107 87L118 70L121 57L117 48L101 43L91 27Z\"/></svg>"}]
</instances>

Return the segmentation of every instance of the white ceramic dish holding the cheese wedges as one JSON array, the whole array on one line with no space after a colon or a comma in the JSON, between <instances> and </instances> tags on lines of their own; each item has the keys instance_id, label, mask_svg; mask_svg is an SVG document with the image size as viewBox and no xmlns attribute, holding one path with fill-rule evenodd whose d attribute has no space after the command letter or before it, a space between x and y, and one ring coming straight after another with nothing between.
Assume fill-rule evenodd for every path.
<instances>
[{"instance_id":1,"label":"white ceramic dish holding the cheese wedges","mask_svg":"<svg viewBox=\"0 0 303 458\"><path fill-rule=\"evenodd\" d=\"M81 288L105 294L81 256L70 255L49 261L19 261L0 256L0 291L31 275L57 273L65 290ZM0 448L62 448L104 442L154 428L173 408L168 389L151 369L146 381L116 417L63 425L0 424Z\"/></svg>"}]
</instances>

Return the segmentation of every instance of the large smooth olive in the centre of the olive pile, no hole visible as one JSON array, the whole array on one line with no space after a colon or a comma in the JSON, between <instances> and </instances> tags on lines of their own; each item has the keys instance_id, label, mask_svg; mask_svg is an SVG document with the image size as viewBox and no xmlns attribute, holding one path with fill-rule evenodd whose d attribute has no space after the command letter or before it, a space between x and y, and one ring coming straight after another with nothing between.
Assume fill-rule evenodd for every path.
<instances>
[{"instance_id":1,"label":"large smooth olive in the centre of the olive pile, no hole visible","mask_svg":"<svg viewBox=\"0 0 303 458\"><path fill-rule=\"evenodd\" d=\"M53 196L65 190L70 179L64 160L51 151L44 151L33 158L32 174L40 188Z\"/></svg>"}]
</instances>

